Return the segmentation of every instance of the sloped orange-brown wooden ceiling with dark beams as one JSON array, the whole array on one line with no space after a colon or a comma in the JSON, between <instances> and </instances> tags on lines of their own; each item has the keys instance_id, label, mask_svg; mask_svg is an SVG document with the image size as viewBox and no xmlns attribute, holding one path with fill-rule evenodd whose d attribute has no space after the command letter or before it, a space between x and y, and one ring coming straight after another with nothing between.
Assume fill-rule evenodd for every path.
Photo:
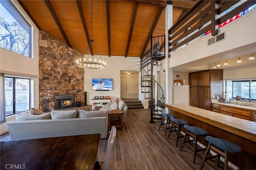
<instances>
[{"instance_id":1,"label":"sloped orange-brown wooden ceiling with dark beams","mask_svg":"<svg viewBox=\"0 0 256 170\"><path fill-rule=\"evenodd\" d=\"M164 0L19 0L37 25L85 53L94 39L100 55L140 57L150 49L150 37L165 34ZM170 1L169 1L170 2ZM196 0L174 0L176 23ZM92 29L92 31L91 31ZM95 47L92 54L98 54Z\"/></svg>"}]
</instances>

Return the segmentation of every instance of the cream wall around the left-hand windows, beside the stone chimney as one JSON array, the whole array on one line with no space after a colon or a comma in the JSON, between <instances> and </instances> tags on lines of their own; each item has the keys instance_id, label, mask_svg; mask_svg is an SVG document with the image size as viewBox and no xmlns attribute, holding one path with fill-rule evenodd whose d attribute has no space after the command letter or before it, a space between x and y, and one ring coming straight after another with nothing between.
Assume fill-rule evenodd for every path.
<instances>
[{"instance_id":1,"label":"cream wall around the left-hand windows, beside the stone chimney","mask_svg":"<svg viewBox=\"0 0 256 170\"><path fill-rule=\"evenodd\" d=\"M21 14L24 15L24 18L28 20L30 25L32 25L32 58L22 56L18 53L13 53L11 51L8 51L6 49L0 48L0 72L5 73L6 75L10 76L16 76L16 77L23 77L23 78L30 78L31 79L31 107L37 107L39 106L39 84L38 84L38 51L39 51L39 45L38 45L38 39L39 39L39 30L37 29L36 25L33 23L33 21L28 17L26 12L23 10L23 8L20 6L20 4L13 0L15 6L20 10ZM6 122L2 123L0 125L0 134L8 132L6 123L8 121L15 121L15 116L9 116L6 117Z\"/></svg>"}]
</instances>

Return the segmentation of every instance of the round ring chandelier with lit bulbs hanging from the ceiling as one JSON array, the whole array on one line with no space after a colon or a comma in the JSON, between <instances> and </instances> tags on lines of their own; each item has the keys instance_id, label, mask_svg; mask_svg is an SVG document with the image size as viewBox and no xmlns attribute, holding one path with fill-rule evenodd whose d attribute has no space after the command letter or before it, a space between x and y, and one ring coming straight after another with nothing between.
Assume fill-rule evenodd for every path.
<instances>
[{"instance_id":1,"label":"round ring chandelier with lit bulbs hanging from the ceiling","mask_svg":"<svg viewBox=\"0 0 256 170\"><path fill-rule=\"evenodd\" d=\"M94 56L94 55L90 54L92 45L95 45L97 52L99 54L98 56ZM106 62L104 62L102 60L102 58L100 56L100 52L98 50L98 47L97 47L95 41L92 39L92 0L91 0L91 39L90 39L90 43L86 49L86 52L84 54L84 57L77 59L76 64L82 68L93 68L93 69L105 68L105 66L106 66Z\"/></svg>"}]
</instances>

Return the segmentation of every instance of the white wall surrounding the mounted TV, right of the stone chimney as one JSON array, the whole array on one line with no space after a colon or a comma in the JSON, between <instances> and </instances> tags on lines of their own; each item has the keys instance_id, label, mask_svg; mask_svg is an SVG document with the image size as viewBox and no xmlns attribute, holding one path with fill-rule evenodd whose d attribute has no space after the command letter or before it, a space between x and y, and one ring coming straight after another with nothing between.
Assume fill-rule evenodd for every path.
<instances>
[{"instance_id":1,"label":"white wall surrounding the mounted TV, right of the stone chimney","mask_svg":"<svg viewBox=\"0 0 256 170\"><path fill-rule=\"evenodd\" d=\"M87 92L88 105L92 104L94 96L110 96L111 100L120 98L120 70L140 70L140 57L102 56L102 60L106 61L105 68L84 69L84 91ZM113 90L92 90L92 78L113 78Z\"/></svg>"}]
</instances>

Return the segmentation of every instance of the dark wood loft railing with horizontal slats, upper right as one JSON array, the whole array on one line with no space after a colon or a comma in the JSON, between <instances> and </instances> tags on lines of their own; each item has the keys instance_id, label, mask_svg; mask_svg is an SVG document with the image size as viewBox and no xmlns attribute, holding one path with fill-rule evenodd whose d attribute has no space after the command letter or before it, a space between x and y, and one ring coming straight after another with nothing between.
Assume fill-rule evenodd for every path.
<instances>
[{"instance_id":1,"label":"dark wood loft railing with horizontal slats, upper right","mask_svg":"<svg viewBox=\"0 0 256 170\"><path fill-rule=\"evenodd\" d=\"M240 0L200 0L180 20L168 30L168 57L179 47L186 45L197 37L211 30L218 34L218 25L240 14L256 4L255 0L238 3ZM230 8L232 6L236 8ZM223 13L230 9L229 12Z\"/></svg>"}]
</instances>

